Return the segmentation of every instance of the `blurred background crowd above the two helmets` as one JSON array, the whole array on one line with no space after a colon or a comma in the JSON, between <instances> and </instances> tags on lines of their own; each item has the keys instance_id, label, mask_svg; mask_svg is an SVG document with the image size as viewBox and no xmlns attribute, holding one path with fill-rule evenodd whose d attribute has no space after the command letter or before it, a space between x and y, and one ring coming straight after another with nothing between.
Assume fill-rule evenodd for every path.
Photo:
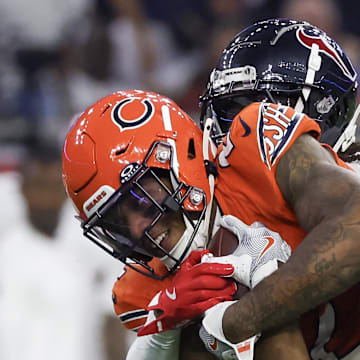
<instances>
[{"instance_id":1,"label":"blurred background crowd above the two helmets","mask_svg":"<svg viewBox=\"0 0 360 360\"><path fill-rule=\"evenodd\" d=\"M2 1L0 162L21 156L7 144L61 144L73 116L117 89L165 94L196 117L221 49L254 20L308 20L359 67L353 9L355 0Z\"/></svg>"}]
</instances>

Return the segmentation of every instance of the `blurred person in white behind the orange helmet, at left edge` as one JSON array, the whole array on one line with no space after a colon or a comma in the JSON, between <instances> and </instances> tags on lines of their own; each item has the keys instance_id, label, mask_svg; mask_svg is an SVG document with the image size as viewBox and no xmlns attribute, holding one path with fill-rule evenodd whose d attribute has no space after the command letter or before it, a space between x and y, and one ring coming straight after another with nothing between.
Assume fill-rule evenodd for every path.
<instances>
[{"instance_id":1,"label":"blurred person in white behind the orange helmet, at left edge","mask_svg":"<svg viewBox=\"0 0 360 360\"><path fill-rule=\"evenodd\" d=\"M17 203L1 229L0 358L110 360L115 338L124 359L127 334L111 302L122 265L82 236L65 201L58 150L30 150L20 175L0 190L2 214Z\"/></svg>"}]
</instances>

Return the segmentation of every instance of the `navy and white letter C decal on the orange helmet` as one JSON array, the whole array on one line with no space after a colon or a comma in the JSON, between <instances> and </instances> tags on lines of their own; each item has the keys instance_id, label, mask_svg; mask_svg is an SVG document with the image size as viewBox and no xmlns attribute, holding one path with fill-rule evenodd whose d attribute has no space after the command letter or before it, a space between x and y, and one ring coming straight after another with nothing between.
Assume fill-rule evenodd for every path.
<instances>
[{"instance_id":1,"label":"navy and white letter C decal on the orange helmet","mask_svg":"<svg viewBox=\"0 0 360 360\"><path fill-rule=\"evenodd\" d=\"M136 118L133 118L131 116L126 116L127 107L131 109L132 116L134 111L138 111L139 107L142 110L142 113ZM150 119L154 115L154 112L155 112L154 104L149 99L141 99L139 97L133 97L120 101L113 108L111 113L111 119L114 122L114 124L120 128L120 131L125 131L143 126L144 124L150 121Z\"/></svg>"}]
</instances>

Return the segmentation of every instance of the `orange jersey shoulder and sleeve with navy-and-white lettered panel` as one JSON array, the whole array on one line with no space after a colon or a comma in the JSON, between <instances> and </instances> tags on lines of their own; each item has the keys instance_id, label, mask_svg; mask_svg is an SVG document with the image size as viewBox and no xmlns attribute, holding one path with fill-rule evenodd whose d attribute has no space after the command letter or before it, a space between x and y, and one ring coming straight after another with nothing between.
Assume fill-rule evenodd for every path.
<instances>
[{"instance_id":1,"label":"orange jersey shoulder and sleeve with navy-and-white lettered panel","mask_svg":"<svg viewBox=\"0 0 360 360\"><path fill-rule=\"evenodd\" d=\"M320 136L318 124L292 108L254 103L235 118L220 145L215 197L224 214L250 225L261 221L294 250L305 237L279 189L281 157L305 133Z\"/></svg>"}]
</instances>

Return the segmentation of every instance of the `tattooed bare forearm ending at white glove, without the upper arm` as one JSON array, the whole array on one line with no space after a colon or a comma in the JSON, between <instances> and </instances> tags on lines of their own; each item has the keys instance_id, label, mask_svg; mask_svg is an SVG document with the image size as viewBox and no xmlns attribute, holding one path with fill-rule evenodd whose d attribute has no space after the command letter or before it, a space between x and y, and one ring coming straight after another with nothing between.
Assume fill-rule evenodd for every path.
<instances>
[{"instance_id":1,"label":"tattooed bare forearm ending at white glove, without the upper arm","mask_svg":"<svg viewBox=\"0 0 360 360\"><path fill-rule=\"evenodd\" d=\"M319 224L285 265L227 309L230 341L283 326L359 281L360 220L349 214Z\"/></svg>"}]
</instances>

